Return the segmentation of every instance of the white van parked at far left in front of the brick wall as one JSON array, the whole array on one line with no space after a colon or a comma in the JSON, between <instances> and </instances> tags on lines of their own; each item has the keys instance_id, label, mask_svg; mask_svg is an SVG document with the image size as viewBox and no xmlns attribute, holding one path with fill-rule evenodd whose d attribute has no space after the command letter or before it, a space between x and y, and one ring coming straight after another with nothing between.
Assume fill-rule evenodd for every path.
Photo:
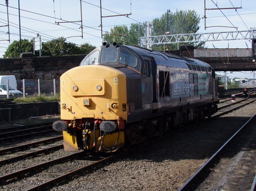
<instances>
[{"instance_id":1,"label":"white van parked at far left in front of the brick wall","mask_svg":"<svg viewBox=\"0 0 256 191\"><path fill-rule=\"evenodd\" d=\"M0 95L7 95L7 80L9 80L9 95L22 96L22 92L17 90L17 81L14 75L0 75Z\"/></svg>"}]
</instances>

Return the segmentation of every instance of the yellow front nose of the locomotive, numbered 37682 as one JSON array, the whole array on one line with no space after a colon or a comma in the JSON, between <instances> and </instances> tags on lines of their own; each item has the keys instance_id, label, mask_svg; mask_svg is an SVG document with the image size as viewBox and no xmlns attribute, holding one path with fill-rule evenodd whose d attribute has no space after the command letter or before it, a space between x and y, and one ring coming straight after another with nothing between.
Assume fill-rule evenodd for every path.
<instances>
[{"instance_id":1,"label":"yellow front nose of the locomotive, numbered 37682","mask_svg":"<svg viewBox=\"0 0 256 191\"><path fill-rule=\"evenodd\" d=\"M100 74L100 78L97 74ZM125 74L102 65L79 66L61 76L61 119L127 119Z\"/></svg>"}]
</instances>

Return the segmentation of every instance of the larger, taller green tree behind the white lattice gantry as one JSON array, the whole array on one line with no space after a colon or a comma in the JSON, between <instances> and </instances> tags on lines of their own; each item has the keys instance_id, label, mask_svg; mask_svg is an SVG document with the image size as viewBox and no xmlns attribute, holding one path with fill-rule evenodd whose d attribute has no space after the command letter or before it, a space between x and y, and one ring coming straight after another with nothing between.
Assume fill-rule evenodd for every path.
<instances>
[{"instance_id":1,"label":"larger, taller green tree behind the white lattice gantry","mask_svg":"<svg viewBox=\"0 0 256 191\"><path fill-rule=\"evenodd\" d=\"M163 36L168 34L188 34L196 33L199 30L200 17L194 10L176 11L174 13L164 13L162 17L153 20L153 36ZM181 39L182 40L182 39ZM201 43L188 43L196 48L202 48L205 44ZM176 49L177 45L165 45L165 48ZM161 45L155 45L154 49L163 49Z\"/></svg>"}]
</instances>

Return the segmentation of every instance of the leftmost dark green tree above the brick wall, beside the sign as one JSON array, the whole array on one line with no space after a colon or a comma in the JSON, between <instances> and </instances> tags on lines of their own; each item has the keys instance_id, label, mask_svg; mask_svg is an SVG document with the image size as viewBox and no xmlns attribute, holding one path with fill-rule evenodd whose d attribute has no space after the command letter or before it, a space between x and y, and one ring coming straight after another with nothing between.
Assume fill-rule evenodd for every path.
<instances>
[{"instance_id":1,"label":"leftmost dark green tree above the brick wall, beside the sign","mask_svg":"<svg viewBox=\"0 0 256 191\"><path fill-rule=\"evenodd\" d=\"M21 39L22 52L33 52L33 40ZM4 58L19 58L19 41L15 40L5 51Z\"/></svg>"}]
</instances>

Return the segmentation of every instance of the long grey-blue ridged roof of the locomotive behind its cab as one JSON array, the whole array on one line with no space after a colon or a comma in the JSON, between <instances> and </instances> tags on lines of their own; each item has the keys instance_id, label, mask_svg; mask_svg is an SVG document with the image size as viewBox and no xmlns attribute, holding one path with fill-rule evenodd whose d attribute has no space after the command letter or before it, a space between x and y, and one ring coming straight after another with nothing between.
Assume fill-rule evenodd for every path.
<instances>
[{"instance_id":1,"label":"long grey-blue ridged roof of the locomotive behind its cab","mask_svg":"<svg viewBox=\"0 0 256 191\"><path fill-rule=\"evenodd\" d=\"M197 60L194 58L183 57L182 55L174 55L174 54L169 54L165 52L151 51L149 49L142 48L139 46L128 46L128 45L122 45L122 46L126 46L127 48L132 49L134 52L136 52L141 56L149 56L149 57L158 58L160 60L172 60L172 61L185 63L185 64L189 63L189 64L195 64L199 66L211 67L209 64L205 63L204 61Z\"/></svg>"}]
</instances>

